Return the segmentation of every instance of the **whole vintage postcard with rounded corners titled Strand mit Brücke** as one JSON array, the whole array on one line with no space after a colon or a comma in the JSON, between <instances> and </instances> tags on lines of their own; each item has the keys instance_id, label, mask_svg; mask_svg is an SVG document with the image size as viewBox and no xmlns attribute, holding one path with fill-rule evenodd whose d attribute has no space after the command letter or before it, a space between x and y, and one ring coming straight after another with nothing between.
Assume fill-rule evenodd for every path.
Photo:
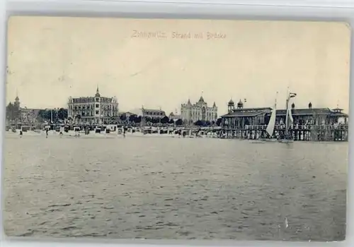
<instances>
[{"instance_id":1,"label":"whole vintage postcard with rounded corners titled Strand mit Br\u00fccke","mask_svg":"<svg viewBox=\"0 0 354 247\"><path fill-rule=\"evenodd\" d=\"M13 16L11 237L346 238L350 26Z\"/></svg>"}]
</instances>

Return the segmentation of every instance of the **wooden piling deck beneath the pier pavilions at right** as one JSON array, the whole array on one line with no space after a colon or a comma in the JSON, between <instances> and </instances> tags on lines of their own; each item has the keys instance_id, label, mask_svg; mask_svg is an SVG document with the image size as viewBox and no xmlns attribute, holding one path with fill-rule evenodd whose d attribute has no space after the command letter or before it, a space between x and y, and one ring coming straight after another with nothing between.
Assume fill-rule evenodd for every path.
<instances>
[{"instance_id":1,"label":"wooden piling deck beneath the pier pavilions at right","mask_svg":"<svg viewBox=\"0 0 354 247\"><path fill-rule=\"evenodd\" d=\"M265 136L267 126L245 126L245 128L222 128L220 136L223 138L238 138L257 140ZM302 125L294 126L288 131L297 141L348 141L348 124L338 126ZM284 135L285 126L275 126L275 135Z\"/></svg>"}]
</instances>

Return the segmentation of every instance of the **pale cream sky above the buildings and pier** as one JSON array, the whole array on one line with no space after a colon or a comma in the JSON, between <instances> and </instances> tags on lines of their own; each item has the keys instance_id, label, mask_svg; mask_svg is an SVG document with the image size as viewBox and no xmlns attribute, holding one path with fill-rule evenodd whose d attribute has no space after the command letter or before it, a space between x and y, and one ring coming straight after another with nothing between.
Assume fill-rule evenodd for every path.
<instances>
[{"instance_id":1,"label":"pale cream sky above the buildings and pier","mask_svg":"<svg viewBox=\"0 0 354 247\"><path fill-rule=\"evenodd\" d=\"M289 88L297 108L348 112L349 62L346 23L16 16L8 22L6 101L67 107L69 96L93 97L99 87L118 98L120 112L179 113L202 95L225 114L230 99L273 107L276 98L284 108Z\"/></svg>"}]
</instances>

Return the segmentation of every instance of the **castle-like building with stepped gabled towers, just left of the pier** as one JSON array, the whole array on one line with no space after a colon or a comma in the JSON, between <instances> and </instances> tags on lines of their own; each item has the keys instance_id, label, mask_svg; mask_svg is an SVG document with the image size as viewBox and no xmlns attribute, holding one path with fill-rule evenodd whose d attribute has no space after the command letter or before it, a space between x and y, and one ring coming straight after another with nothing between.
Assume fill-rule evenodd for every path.
<instances>
[{"instance_id":1,"label":"castle-like building with stepped gabled towers, just left of the pier","mask_svg":"<svg viewBox=\"0 0 354 247\"><path fill-rule=\"evenodd\" d=\"M186 104L181 104L181 119L183 123L191 125L196 121L210 121L210 123L217 121L217 105L212 107L207 106L207 102L201 96L199 101L192 104L190 100Z\"/></svg>"}]
</instances>

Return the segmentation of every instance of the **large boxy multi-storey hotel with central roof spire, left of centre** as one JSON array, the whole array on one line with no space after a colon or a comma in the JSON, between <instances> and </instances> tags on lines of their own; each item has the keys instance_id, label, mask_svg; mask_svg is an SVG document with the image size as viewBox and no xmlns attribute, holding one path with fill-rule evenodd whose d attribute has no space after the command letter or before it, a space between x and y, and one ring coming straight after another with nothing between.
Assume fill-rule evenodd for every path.
<instances>
[{"instance_id":1,"label":"large boxy multi-storey hotel with central roof spire, left of centre","mask_svg":"<svg viewBox=\"0 0 354 247\"><path fill-rule=\"evenodd\" d=\"M117 98L101 97L98 87L94 97L69 97L68 119L72 123L112 123L118 119Z\"/></svg>"}]
</instances>

